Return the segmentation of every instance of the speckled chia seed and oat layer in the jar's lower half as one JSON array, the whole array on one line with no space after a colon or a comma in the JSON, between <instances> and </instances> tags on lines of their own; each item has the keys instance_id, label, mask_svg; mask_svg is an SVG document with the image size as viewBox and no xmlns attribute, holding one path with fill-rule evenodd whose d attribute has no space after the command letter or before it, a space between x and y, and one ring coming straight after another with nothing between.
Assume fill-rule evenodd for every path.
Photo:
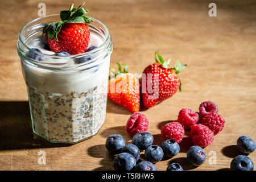
<instances>
[{"instance_id":1,"label":"speckled chia seed and oat layer in the jar's lower half","mask_svg":"<svg viewBox=\"0 0 256 182\"><path fill-rule=\"evenodd\" d=\"M34 132L49 142L75 143L92 137L106 119L107 86L108 80L63 96L27 85Z\"/></svg>"}]
</instances>

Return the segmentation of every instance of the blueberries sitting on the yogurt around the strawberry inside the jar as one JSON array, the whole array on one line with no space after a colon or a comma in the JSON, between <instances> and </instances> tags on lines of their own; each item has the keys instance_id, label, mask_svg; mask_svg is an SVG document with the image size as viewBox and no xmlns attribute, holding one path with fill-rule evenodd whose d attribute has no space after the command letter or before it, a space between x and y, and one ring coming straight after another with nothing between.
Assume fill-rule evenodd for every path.
<instances>
[{"instance_id":1,"label":"blueberries sitting on the yogurt around the strawberry inside the jar","mask_svg":"<svg viewBox=\"0 0 256 182\"><path fill-rule=\"evenodd\" d=\"M47 50L50 50L48 45L44 47L45 49ZM89 51L92 51L93 49L96 49L97 46L91 46L89 47L88 49L86 49L85 52L89 52ZM39 53L42 53L42 51L40 51L38 48L32 48L32 50L36 51L36 52L39 52ZM32 51L29 51L27 53L27 57L30 57L30 59L34 59L34 60L38 60L38 61L43 61L43 55L40 55L36 52L32 52ZM53 56L70 56L70 54L68 52L65 52L65 51L61 51L61 52L57 52L55 53ZM85 63L86 61L89 61L93 59L92 56L83 56L83 57L80 57L80 58L77 58L75 60L75 64L80 64L80 63Z\"/></svg>"}]
</instances>

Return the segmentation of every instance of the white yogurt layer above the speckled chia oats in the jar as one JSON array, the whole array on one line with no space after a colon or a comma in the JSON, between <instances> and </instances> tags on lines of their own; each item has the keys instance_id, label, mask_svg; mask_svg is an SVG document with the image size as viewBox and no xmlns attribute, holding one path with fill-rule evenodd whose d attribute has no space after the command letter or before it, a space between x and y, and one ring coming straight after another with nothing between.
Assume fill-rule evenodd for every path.
<instances>
[{"instance_id":1,"label":"white yogurt layer above the speckled chia oats in the jar","mask_svg":"<svg viewBox=\"0 0 256 182\"><path fill-rule=\"evenodd\" d=\"M53 55L55 52L44 49L44 43L42 42L44 42L42 37L37 36L30 39L27 42L27 46L30 48L38 48L45 54ZM99 47L102 43L102 40L98 36L91 34L88 47ZM86 92L106 80L109 74L109 63L110 55L105 57L104 63L100 64L97 68L82 72L52 71L31 65L24 65L24 78L27 84L38 88L42 93L67 95L71 92Z\"/></svg>"}]
</instances>

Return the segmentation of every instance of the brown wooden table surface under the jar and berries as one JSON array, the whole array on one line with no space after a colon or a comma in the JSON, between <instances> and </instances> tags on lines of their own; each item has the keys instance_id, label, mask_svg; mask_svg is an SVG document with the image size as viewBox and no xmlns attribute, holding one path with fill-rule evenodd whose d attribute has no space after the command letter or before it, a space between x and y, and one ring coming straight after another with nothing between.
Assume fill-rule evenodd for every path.
<instances>
[{"instance_id":1,"label":"brown wooden table surface under the jar and berries","mask_svg":"<svg viewBox=\"0 0 256 182\"><path fill-rule=\"evenodd\" d=\"M113 156L105 148L110 134L125 131L130 112L108 101L107 119L93 138L71 146L51 144L32 133L27 89L16 53L20 28L38 17L38 3L46 3L46 14L69 7L68 1L1 1L0 19L0 169L2 170L113 170ZM76 1L78 6L83 1ZM226 119L225 129L205 148L207 160L193 168L186 160L191 146L185 133L181 151L173 159L156 163L166 170L171 162L184 169L225 170L241 154L236 140L248 135L256 140L256 10L255 1L214 1L217 17L208 15L211 1L86 1L90 15L110 29L114 51L111 65L127 63L130 72L141 73L154 63L160 49L172 64L188 64L180 73L183 91L161 104L142 111L150 121L148 131L160 144L161 127L177 119L184 107L198 111L203 101L214 101ZM209 153L216 152L216 164ZM212 154L214 154L214 152ZM46 164L40 156L46 154ZM142 155L143 156L143 155ZM249 157L256 164L256 152Z\"/></svg>"}]
</instances>

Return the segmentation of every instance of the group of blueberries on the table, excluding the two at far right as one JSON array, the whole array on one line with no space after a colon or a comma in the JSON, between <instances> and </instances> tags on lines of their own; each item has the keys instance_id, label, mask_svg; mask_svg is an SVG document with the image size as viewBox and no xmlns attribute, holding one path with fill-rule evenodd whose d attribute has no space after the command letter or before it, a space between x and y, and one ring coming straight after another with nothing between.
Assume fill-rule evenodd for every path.
<instances>
[{"instance_id":1,"label":"group of blueberries on the table, excluding the two at far right","mask_svg":"<svg viewBox=\"0 0 256 182\"><path fill-rule=\"evenodd\" d=\"M134 135L131 144L126 144L125 139L118 134L110 135L106 139L106 148L113 154L113 167L116 171L156 171L156 162L163 159L163 156L172 158L180 151L180 146L175 140L164 140L161 146L152 145L154 137L148 132L141 132ZM138 162L141 151L144 150L146 160ZM187 159L193 166L200 166L206 158L205 151L199 146L192 146L187 151ZM183 171L178 163L172 163L167 171Z\"/></svg>"}]
</instances>

